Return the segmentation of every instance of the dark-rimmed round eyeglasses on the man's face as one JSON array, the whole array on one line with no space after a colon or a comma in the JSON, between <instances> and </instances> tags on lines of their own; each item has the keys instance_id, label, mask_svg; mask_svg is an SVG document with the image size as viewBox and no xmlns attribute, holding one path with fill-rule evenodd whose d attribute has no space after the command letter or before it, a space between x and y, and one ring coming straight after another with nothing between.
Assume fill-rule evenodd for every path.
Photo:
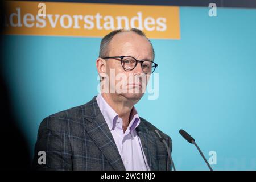
<instances>
[{"instance_id":1,"label":"dark-rimmed round eyeglasses on the man's face","mask_svg":"<svg viewBox=\"0 0 256 182\"><path fill-rule=\"evenodd\" d=\"M133 70L138 62L141 63L142 71L145 74L151 74L155 71L155 68L158 66L158 64L154 63L150 60L137 60L134 57L131 56L112 56L112 57L103 57L102 59L121 59L122 67L125 71L131 71Z\"/></svg>"}]
</instances>

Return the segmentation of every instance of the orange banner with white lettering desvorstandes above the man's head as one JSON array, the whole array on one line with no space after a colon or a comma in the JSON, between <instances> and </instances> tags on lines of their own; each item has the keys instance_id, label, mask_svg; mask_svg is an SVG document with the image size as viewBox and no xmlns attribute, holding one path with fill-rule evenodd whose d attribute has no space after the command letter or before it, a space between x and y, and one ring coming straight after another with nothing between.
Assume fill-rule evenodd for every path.
<instances>
[{"instance_id":1,"label":"orange banner with white lettering desvorstandes above the man's head","mask_svg":"<svg viewBox=\"0 0 256 182\"><path fill-rule=\"evenodd\" d=\"M102 37L139 28L149 38L180 39L179 7L6 1L5 34Z\"/></svg>"}]
</instances>

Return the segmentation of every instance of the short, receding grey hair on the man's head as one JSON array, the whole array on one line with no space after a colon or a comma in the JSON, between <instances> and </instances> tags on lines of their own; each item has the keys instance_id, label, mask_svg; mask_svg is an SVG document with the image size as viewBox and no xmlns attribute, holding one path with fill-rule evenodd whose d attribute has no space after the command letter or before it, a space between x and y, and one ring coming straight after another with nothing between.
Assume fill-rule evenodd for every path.
<instances>
[{"instance_id":1,"label":"short, receding grey hair on the man's head","mask_svg":"<svg viewBox=\"0 0 256 182\"><path fill-rule=\"evenodd\" d=\"M146 34L143 31L141 31L137 28L131 28L129 30L125 30L125 29L114 30L114 31L110 32L108 35L104 36L104 38L102 38L99 57L103 58L103 57L108 57L109 56L108 55L108 53L109 53L109 49L108 49L109 43L115 35L117 35L121 32L135 32L136 34L141 35L144 38L147 38ZM154 60L155 59L155 51L154 51L153 45L152 45L152 43L150 42L150 40L148 38L147 38L147 40L151 44L152 52L153 52L153 60Z\"/></svg>"}]
</instances>

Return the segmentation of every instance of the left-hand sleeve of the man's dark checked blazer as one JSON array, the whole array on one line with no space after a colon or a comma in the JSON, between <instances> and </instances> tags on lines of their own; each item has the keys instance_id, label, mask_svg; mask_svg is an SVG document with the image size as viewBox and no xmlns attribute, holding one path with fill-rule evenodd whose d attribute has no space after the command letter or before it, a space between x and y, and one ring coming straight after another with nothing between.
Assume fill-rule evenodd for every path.
<instances>
[{"instance_id":1,"label":"left-hand sleeve of the man's dark checked blazer","mask_svg":"<svg viewBox=\"0 0 256 182\"><path fill-rule=\"evenodd\" d=\"M42 164L42 151L45 152L45 164ZM41 163L38 162L39 160ZM43 119L38 130L32 169L72 170L72 150L67 120L51 116Z\"/></svg>"}]
</instances>

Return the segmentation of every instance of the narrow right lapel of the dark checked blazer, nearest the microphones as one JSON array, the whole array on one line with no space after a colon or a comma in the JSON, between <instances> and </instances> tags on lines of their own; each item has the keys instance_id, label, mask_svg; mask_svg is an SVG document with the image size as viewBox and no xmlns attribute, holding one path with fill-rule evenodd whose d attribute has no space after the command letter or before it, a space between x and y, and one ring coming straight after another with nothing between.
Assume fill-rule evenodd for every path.
<instances>
[{"instance_id":1,"label":"narrow right lapel of the dark checked blazer, nearest the microphones","mask_svg":"<svg viewBox=\"0 0 256 182\"><path fill-rule=\"evenodd\" d=\"M139 123L139 126L136 128L136 130L139 135L139 139L141 140L148 166L150 167L151 171L156 171L159 170L158 162L156 159L156 144L153 142L154 138L150 135L151 131L148 131L142 120L143 119L141 118L141 123Z\"/></svg>"}]
</instances>

